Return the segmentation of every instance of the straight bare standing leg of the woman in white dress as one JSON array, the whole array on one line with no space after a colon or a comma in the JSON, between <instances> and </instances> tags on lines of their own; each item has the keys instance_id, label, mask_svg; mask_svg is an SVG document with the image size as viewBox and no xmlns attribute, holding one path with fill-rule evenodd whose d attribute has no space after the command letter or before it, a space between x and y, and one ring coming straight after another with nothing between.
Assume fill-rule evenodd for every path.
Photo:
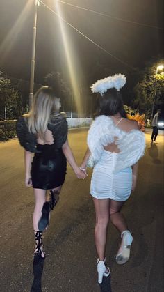
<instances>
[{"instance_id":1,"label":"straight bare standing leg of the woman in white dress","mask_svg":"<svg viewBox=\"0 0 164 292\"><path fill-rule=\"evenodd\" d=\"M105 259L106 236L109 221L109 199L93 198L96 212L95 245L100 261Z\"/></svg>"}]
</instances>

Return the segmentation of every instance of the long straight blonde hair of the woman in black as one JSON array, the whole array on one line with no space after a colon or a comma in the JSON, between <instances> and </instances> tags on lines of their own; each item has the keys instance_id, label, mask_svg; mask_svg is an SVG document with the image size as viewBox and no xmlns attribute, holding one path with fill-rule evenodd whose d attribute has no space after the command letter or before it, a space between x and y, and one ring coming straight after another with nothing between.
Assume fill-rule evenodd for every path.
<instances>
[{"instance_id":1,"label":"long straight blonde hair of the woman in black","mask_svg":"<svg viewBox=\"0 0 164 292\"><path fill-rule=\"evenodd\" d=\"M28 117L28 130L38 134L40 139L45 141L45 132L51 121L51 115L58 116L59 109L60 99L55 96L54 90L49 86L42 86L33 97L30 112L25 115Z\"/></svg>"}]
</instances>

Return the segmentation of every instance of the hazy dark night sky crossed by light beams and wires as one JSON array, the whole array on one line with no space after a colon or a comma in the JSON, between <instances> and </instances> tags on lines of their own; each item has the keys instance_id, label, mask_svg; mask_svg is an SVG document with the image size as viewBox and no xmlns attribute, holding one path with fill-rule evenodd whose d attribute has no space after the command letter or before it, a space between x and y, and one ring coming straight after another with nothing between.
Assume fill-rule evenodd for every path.
<instances>
[{"instance_id":1,"label":"hazy dark night sky crossed by light beams and wires","mask_svg":"<svg viewBox=\"0 0 164 292\"><path fill-rule=\"evenodd\" d=\"M42 1L56 10L55 1ZM30 77L34 2L1 0L0 70L12 77L26 80ZM150 27L163 27L163 0L68 0L67 3L112 16L98 15L58 2L63 18L109 53L64 23L63 29L71 52L70 62L79 82L88 84L96 81L94 78L124 73L133 67L142 68L153 56L163 55L163 29ZM69 79L58 17L40 3L35 82L42 83L44 76L52 70L62 72Z\"/></svg>"}]
</instances>

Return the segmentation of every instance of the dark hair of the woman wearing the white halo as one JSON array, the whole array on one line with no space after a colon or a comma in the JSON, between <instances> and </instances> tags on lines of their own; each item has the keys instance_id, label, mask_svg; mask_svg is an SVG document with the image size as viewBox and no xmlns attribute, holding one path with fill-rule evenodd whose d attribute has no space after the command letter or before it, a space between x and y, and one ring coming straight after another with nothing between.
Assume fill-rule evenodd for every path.
<instances>
[{"instance_id":1,"label":"dark hair of the woman wearing the white halo","mask_svg":"<svg viewBox=\"0 0 164 292\"><path fill-rule=\"evenodd\" d=\"M117 89L108 89L103 96L98 97L97 111L94 114L94 118L104 114L105 116L114 116L117 113L123 118L126 118L126 112L124 110L124 104L122 101L122 95Z\"/></svg>"}]
</instances>

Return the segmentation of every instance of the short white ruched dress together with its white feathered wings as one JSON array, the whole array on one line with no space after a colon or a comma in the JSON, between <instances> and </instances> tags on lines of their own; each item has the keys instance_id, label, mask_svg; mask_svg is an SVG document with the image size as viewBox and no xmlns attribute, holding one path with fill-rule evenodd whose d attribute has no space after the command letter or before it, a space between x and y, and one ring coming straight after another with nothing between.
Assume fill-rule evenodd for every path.
<instances>
[{"instance_id":1,"label":"short white ruched dress together with its white feathered wings","mask_svg":"<svg viewBox=\"0 0 164 292\"><path fill-rule=\"evenodd\" d=\"M119 153L104 149L114 141ZM139 130L125 132L113 123L112 118L101 115L92 122L88 147L96 162L90 185L92 197L126 201L132 188L131 166L145 152L145 135Z\"/></svg>"}]
</instances>

